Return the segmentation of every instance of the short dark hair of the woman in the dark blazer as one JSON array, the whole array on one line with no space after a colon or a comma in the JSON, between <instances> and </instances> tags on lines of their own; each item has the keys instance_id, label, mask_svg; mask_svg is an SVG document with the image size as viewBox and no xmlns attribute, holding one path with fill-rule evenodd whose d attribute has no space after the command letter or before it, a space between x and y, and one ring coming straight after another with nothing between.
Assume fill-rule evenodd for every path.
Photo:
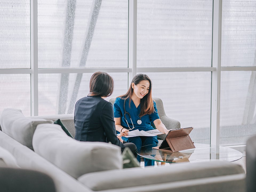
<instances>
[{"instance_id":1,"label":"short dark hair of the woman in the dark blazer","mask_svg":"<svg viewBox=\"0 0 256 192\"><path fill-rule=\"evenodd\" d=\"M90 95L109 97L113 93L114 80L105 72L96 72L90 79Z\"/></svg>"}]
</instances>

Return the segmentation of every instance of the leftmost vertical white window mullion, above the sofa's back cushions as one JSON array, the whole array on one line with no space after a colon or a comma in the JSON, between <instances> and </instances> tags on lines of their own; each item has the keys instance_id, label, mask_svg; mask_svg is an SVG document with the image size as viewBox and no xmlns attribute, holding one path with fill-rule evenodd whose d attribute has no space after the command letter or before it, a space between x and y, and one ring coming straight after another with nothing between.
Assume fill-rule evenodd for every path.
<instances>
[{"instance_id":1,"label":"leftmost vertical white window mullion, above the sofa's back cushions","mask_svg":"<svg viewBox=\"0 0 256 192\"><path fill-rule=\"evenodd\" d=\"M37 0L30 0L31 116L38 115L38 25Z\"/></svg>"}]
</instances>

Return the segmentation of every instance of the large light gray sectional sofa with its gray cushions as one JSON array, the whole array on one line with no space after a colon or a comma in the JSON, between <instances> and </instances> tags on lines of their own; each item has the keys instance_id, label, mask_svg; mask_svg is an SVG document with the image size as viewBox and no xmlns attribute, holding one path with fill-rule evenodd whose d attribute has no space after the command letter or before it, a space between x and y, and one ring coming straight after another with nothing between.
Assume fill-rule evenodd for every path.
<instances>
[{"instance_id":1,"label":"large light gray sectional sofa with its gray cushions","mask_svg":"<svg viewBox=\"0 0 256 192\"><path fill-rule=\"evenodd\" d=\"M12 156L9 160L3 158L6 166L43 172L53 178L59 192L245 191L244 170L235 163L172 163L122 169L122 154L117 146L75 141L59 125L52 124L57 119L74 136L72 114L22 117L19 110L3 111L0 147ZM26 123L29 126L24 126ZM104 156L100 158L101 154Z\"/></svg>"}]
</instances>

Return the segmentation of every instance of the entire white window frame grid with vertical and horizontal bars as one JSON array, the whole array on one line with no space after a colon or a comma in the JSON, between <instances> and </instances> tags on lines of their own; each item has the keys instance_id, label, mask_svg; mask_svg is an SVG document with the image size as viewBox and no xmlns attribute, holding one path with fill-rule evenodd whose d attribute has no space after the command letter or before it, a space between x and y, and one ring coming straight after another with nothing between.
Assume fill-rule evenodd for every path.
<instances>
[{"instance_id":1,"label":"entire white window frame grid with vertical and horizontal bars","mask_svg":"<svg viewBox=\"0 0 256 192\"><path fill-rule=\"evenodd\" d=\"M220 86L221 71L256 71L256 66L250 67L221 67L221 27L222 0L213 1L213 29L212 29L212 66L211 67L137 67L137 0L129 1L128 18L128 68L58 68L38 69L38 20L37 0L30 0L31 24L31 69L0 69L0 74L30 74L31 75L31 116L38 115L38 74L52 73L128 73L128 82L140 72L211 72L211 126L210 144L219 145L220 137ZM127 85L128 89L129 83ZM242 147L245 145L239 145Z\"/></svg>"}]
</instances>

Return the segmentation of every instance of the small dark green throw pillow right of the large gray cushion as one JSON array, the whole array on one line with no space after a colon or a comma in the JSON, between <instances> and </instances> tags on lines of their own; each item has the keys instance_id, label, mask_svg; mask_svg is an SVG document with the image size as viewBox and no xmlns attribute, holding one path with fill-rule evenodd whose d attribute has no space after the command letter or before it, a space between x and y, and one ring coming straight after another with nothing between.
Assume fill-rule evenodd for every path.
<instances>
[{"instance_id":1,"label":"small dark green throw pillow right of the large gray cushion","mask_svg":"<svg viewBox=\"0 0 256 192\"><path fill-rule=\"evenodd\" d=\"M140 167L140 163L137 158L134 157L133 153L128 147L125 147L122 153L123 157L123 168Z\"/></svg>"}]
</instances>

